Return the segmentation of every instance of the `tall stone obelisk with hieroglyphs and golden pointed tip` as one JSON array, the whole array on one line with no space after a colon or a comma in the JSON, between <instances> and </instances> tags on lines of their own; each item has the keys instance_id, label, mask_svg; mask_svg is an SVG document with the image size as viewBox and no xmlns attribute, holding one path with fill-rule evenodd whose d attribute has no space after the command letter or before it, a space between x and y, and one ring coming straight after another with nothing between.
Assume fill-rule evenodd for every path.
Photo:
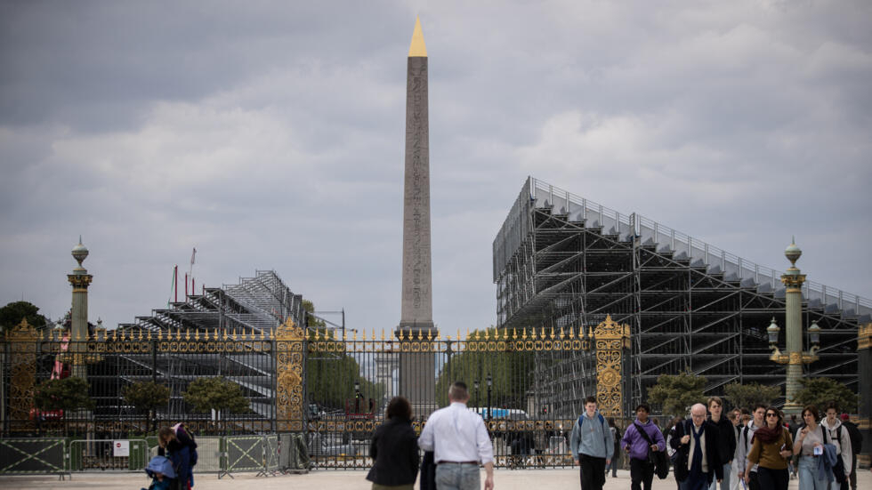
<instances>
[{"instance_id":1,"label":"tall stone obelisk with hieroglyphs and golden pointed tip","mask_svg":"<svg viewBox=\"0 0 872 490\"><path fill-rule=\"evenodd\" d=\"M430 124L427 108L427 47L421 20L416 19L408 47L406 72L406 162L403 181L403 273L400 341L435 337L433 328L430 248ZM432 338L431 337L431 338ZM400 355L400 394L412 402L416 415L435 409L435 356Z\"/></svg>"}]
</instances>

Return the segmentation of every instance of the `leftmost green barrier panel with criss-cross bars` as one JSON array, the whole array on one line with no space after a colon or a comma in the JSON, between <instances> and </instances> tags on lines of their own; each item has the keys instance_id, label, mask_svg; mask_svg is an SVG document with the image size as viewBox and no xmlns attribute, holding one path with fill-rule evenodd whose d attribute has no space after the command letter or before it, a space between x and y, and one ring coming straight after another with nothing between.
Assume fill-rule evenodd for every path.
<instances>
[{"instance_id":1,"label":"leftmost green barrier panel with criss-cross bars","mask_svg":"<svg viewBox=\"0 0 872 490\"><path fill-rule=\"evenodd\" d=\"M64 439L0 439L0 474L66 473Z\"/></svg>"}]
</instances>

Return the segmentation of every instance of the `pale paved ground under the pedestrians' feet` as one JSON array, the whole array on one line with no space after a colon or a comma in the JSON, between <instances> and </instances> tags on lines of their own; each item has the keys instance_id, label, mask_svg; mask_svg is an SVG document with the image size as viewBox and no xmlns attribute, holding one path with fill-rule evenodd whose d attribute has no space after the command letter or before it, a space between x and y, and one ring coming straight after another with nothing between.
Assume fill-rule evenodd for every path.
<instances>
[{"instance_id":1,"label":"pale paved ground under the pedestrians' feet","mask_svg":"<svg viewBox=\"0 0 872 490\"><path fill-rule=\"evenodd\" d=\"M218 479L214 475L198 475L197 490L212 488L226 490L351 490L368 489L369 482L364 478L364 470L350 471L313 471L306 475L282 475L278 477L254 477L254 473L234 475L235 478ZM872 473L860 470L858 475L859 489L872 489ZM545 490L551 488L580 488L578 470L497 470L496 487L499 490ZM86 473L76 474L70 480L59 481L55 477L3 477L0 478L0 488L41 488L71 490L78 488L94 488L98 490L138 490L149 486L149 480L142 475L122 473ZM618 471L618 478L606 479L606 490L630 488L629 471ZM654 490L674 490L675 481L672 478L658 480L654 478ZM790 481L790 488L798 488L796 480Z\"/></svg>"}]
</instances>

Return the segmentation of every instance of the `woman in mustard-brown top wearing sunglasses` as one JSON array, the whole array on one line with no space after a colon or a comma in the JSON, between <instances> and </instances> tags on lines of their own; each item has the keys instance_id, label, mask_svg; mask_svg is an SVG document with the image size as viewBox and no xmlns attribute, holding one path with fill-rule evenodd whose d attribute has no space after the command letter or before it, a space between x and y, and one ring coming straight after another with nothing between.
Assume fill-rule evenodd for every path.
<instances>
[{"instance_id":1,"label":"woman in mustard-brown top wearing sunglasses","mask_svg":"<svg viewBox=\"0 0 872 490\"><path fill-rule=\"evenodd\" d=\"M754 433L751 452L747 455L745 481L751 480L750 467L757 465L757 481L767 490L787 490L790 475L787 472L787 458L793 456L793 438L785 429L781 411L766 407L765 425Z\"/></svg>"}]
</instances>

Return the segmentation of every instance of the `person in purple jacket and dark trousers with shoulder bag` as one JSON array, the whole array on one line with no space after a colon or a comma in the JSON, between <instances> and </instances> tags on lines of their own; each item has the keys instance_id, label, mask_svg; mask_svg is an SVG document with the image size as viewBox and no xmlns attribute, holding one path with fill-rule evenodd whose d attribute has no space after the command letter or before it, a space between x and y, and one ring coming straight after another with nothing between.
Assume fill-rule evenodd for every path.
<instances>
[{"instance_id":1,"label":"person in purple jacket and dark trousers with shoulder bag","mask_svg":"<svg viewBox=\"0 0 872 490\"><path fill-rule=\"evenodd\" d=\"M648 419L651 407L640 404L636 407L636 420L627 426L621 448L630 458L630 479L632 490L651 490L654 481L654 462L651 451L666 451L666 440L658 427Z\"/></svg>"}]
</instances>

